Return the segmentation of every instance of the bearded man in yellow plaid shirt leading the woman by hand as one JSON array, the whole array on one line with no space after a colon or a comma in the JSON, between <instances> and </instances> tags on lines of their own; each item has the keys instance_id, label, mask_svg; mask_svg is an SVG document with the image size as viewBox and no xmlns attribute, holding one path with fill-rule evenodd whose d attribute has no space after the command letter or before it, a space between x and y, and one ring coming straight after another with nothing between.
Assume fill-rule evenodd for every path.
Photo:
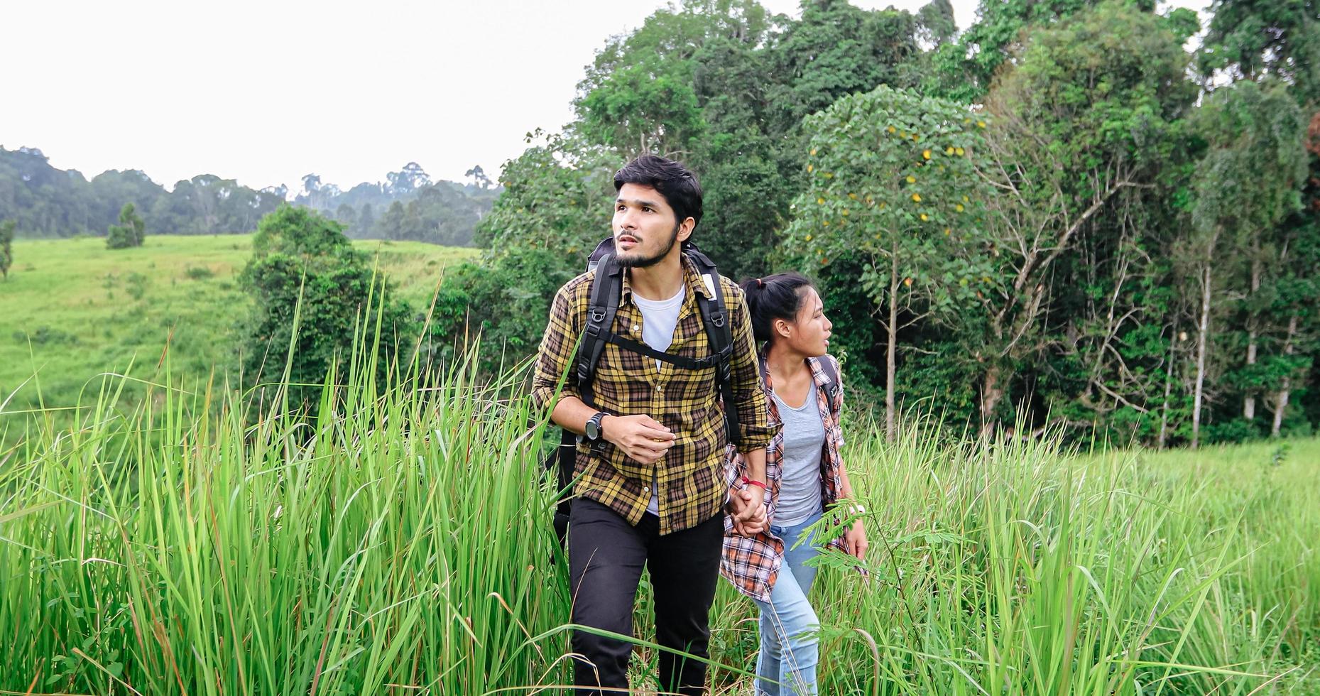
<instances>
[{"instance_id":1,"label":"bearded man in yellow plaid shirt leading the woman by hand","mask_svg":"<svg viewBox=\"0 0 1320 696\"><path fill-rule=\"evenodd\" d=\"M701 222L697 178L648 155L620 169L614 186L614 254L554 295L532 390L539 407L553 404L557 425L581 436L570 452L572 621L631 635L648 568L656 641L706 658L726 501L739 530L764 530L774 428L742 289L688 243ZM602 301L609 310L593 297L602 283L618 288ZM717 330L727 331L722 351L713 350ZM598 350L594 368L579 361L583 331ZM747 461L734 491L730 440ZM581 630L572 643L578 693L628 687L631 643ZM660 652L661 689L704 693L705 680L704 663Z\"/></svg>"}]
</instances>

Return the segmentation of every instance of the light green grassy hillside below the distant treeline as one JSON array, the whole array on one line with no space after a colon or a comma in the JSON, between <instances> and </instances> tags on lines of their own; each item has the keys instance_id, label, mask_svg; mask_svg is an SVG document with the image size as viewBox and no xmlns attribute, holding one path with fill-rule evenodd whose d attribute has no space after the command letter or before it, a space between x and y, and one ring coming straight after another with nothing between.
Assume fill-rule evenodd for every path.
<instances>
[{"instance_id":1,"label":"light green grassy hillside below the distant treeline","mask_svg":"<svg viewBox=\"0 0 1320 696\"><path fill-rule=\"evenodd\" d=\"M136 378L150 379L166 343L174 374L226 371L249 308L236 275L251 244L252 235L158 235L117 251L99 238L15 242L15 268L0 283L0 403L12 396L5 412L71 405L99 387L96 375L131 365ZM376 254L418 308L446 265L475 254L413 242L354 244Z\"/></svg>"}]
</instances>

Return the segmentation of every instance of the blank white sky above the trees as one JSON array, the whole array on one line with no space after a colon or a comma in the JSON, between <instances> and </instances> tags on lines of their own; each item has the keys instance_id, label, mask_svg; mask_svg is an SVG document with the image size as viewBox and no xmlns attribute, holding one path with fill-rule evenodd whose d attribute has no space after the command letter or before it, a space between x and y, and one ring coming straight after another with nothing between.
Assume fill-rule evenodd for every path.
<instances>
[{"instance_id":1,"label":"blank white sky above the trees","mask_svg":"<svg viewBox=\"0 0 1320 696\"><path fill-rule=\"evenodd\" d=\"M916 11L927 0L853 0ZM762 0L799 15L797 0ZM1204 9L1206 0L1175 5ZM0 0L0 145L61 169L343 188L416 161L495 178L657 0ZM953 0L960 26L975 0ZM1204 15L1203 15L1204 21Z\"/></svg>"}]
</instances>

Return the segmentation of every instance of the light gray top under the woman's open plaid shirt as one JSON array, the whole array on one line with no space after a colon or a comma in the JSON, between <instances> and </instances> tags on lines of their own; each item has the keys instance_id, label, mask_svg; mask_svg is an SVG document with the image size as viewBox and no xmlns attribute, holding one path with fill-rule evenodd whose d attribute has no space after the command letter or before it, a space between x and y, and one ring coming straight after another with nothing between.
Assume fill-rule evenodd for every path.
<instances>
[{"instance_id":1,"label":"light gray top under the woman's open plaid shirt","mask_svg":"<svg viewBox=\"0 0 1320 696\"><path fill-rule=\"evenodd\" d=\"M807 394L801 408L788 404L771 394L779 407L779 420L784 424L784 471L779 481L779 501L775 503L776 527L800 524L821 510L821 449L825 446L825 423L816 405L816 386Z\"/></svg>"}]
</instances>

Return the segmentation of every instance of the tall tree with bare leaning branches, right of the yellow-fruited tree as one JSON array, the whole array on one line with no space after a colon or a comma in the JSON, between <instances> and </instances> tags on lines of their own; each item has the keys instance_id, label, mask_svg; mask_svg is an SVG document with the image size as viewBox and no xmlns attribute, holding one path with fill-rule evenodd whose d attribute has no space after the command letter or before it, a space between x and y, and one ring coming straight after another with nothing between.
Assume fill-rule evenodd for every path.
<instances>
[{"instance_id":1,"label":"tall tree with bare leaning branches, right of the yellow-fruited tree","mask_svg":"<svg viewBox=\"0 0 1320 696\"><path fill-rule=\"evenodd\" d=\"M1078 242L1105 239L1100 246L1106 254L1133 251L1119 236L1127 223L1104 222L1126 214L1117 207L1125 195L1155 186L1177 141L1179 119L1196 95L1184 77L1187 63L1170 20L1102 3L1032 33L987 95L994 118L979 166L994 188L985 225L999 272L990 275L979 335L970 339L981 372L982 429L997 421L1018 370L1035 368L1047 351L1068 342L1049 333L1047 317L1068 295L1067 283L1056 287L1056 279L1073 277L1067 271ZM1102 296L1114 283L1100 280ZM1105 329L1110 342L1123 329ZM1102 349L1105 341L1098 337L1092 361L1101 353L1113 357ZM1126 367L1085 370L1086 388L1133 405L1106 391L1106 370Z\"/></svg>"}]
</instances>

